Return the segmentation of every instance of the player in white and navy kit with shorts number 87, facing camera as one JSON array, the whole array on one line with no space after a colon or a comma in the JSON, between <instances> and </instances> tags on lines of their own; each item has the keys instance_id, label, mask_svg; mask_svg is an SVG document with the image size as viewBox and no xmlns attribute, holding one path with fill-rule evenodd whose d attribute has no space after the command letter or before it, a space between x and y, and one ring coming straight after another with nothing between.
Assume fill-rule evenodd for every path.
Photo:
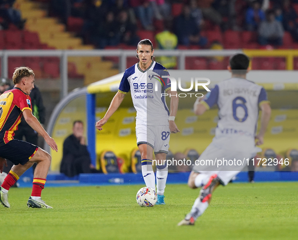
<instances>
[{"instance_id":1,"label":"player in white and navy kit with shorts number 87, facing camera","mask_svg":"<svg viewBox=\"0 0 298 240\"><path fill-rule=\"evenodd\" d=\"M153 150L156 160L157 205L164 203L164 189L167 178L166 154L169 148L170 133L180 132L174 122L178 108L177 92L171 91L167 70L153 60L153 45L149 39L141 40L137 46L139 63L128 68L121 80L118 92L110 103L104 117L96 123L102 126L122 103L125 95L131 91L133 104L137 110L137 145L142 157L142 175L146 187L155 190L155 175L152 169ZM165 103L165 94L170 97L170 111Z\"/></svg>"}]
</instances>

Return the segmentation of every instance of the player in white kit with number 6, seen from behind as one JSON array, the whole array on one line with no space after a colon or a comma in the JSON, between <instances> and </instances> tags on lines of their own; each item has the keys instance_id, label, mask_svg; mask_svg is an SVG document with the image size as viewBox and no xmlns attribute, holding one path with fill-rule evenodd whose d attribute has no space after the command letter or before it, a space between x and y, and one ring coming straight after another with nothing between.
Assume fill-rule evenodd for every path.
<instances>
[{"instance_id":1,"label":"player in white kit with number 6, seen from behind","mask_svg":"<svg viewBox=\"0 0 298 240\"><path fill-rule=\"evenodd\" d=\"M261 150L255 145L263 144L271 108L265 89L246 79L249 62L249 57L243 53L231 56L228 66L231 78L215 85L202 101L196 101L194 111L197 115L203 114L214 104L219 108L215 137L199 157L199 161L240 159L247 165L247 160L244 159L251 159ZM261 128L256 135L259 108L262 110ZM195 164L188 185L193 189L202 188L191 212L178 225L194 225L209 206L215 188L220 184L227 185L244 166L245 164L234 164L202 167Z\"/></svg>"}]
</instances>

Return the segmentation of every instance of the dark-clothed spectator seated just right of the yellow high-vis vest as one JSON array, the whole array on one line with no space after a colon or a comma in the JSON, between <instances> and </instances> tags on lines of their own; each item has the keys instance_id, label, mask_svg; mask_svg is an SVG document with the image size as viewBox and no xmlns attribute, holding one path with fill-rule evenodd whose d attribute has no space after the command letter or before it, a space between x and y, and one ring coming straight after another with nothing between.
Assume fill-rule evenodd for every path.
<instances>
[{"instance_id":1,"label":"dark-clothed spectator seated just right of the yellow high-vis vest","mask_svg":"<svg viewBox=\"0 0 298 240\"><path fill-rule=\"evenodd\" d=\"M207 38L200 36L200 29L191 16L189 6L185 5L182 14L174 19L174 26L179 44L187 46L190 44L205 46L207 44Z\"/></svg>"}]
</instances>

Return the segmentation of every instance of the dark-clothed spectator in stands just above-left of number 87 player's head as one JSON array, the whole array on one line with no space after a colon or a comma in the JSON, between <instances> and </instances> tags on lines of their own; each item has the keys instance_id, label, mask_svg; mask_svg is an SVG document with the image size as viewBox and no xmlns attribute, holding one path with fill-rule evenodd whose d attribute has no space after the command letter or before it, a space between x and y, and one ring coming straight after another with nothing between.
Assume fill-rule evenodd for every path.
<instances>
[{"instance_id":1,"label":"dark-clothed spectator in stands just above-left of number 87 player's head","mask_svg":"<svg viewBox=\"0 0 298 240\"><path fill-rule=\"evenodd\" d=\"M131 22L127 11L121 11L117 20L117 36L121 43L127 45L138 45L140 38L136 35L137 26Z\"/></svg>"}]
</instances>

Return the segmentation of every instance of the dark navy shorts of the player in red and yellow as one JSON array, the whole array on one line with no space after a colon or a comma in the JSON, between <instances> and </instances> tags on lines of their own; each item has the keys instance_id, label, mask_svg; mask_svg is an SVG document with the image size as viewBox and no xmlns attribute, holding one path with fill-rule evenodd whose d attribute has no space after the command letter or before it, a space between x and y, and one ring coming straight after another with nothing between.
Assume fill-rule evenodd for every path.
<instances>
[{"instance_id":1,"label":"dark navy shorts of the player in red and yellow","mask_svg":"<svg viewBox=\"0 0 298 240\"><path fill-rule=\"evenodd\" d=\"M36 145L13 139L0 147L0 157L12 161L15 165L24 165L34 156L37 149Z\"/></svg>"}]
</instances>

